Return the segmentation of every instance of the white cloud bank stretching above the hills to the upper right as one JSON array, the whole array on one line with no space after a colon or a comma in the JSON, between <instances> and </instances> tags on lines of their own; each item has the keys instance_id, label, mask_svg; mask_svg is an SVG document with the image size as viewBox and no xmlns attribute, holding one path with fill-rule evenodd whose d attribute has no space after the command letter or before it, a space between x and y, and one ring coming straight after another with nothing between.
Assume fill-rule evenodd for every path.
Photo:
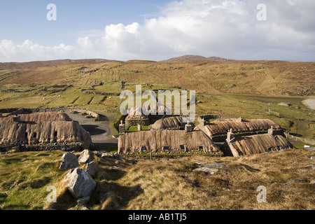
<instances>
[{"instance_id":1,"label":"white cloud bank stretching above the hills to the upper right","mask_svg":"<svg viewBox=\"0 0 315 224\"><path fill-rule=\"evenodd\" d=\"M0 42L0 61L95 58L167 59L195 54L235 59L314 60L315 2L267 1L267 21L258 21L261 0L172 1L144 25L106 25L84 31L74 45L45 47Z\"/></svg>"}]
</instances>

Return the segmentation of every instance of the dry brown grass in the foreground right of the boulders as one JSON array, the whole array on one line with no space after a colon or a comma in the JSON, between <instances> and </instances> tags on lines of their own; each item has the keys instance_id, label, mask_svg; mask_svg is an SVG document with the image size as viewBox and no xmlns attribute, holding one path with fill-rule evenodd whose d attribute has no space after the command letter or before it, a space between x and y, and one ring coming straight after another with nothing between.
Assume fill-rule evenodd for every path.
<instances>
[{"instance_id":1,"label":"dry brown grass in the foreground right of the boulders","mask_svg":"<svg viewBox=\"0 0 315 224\"><path fill-rule=\"evenodd\" d=\"M288 150L241 158L139 162L119 183L139 185L144 193L123 209L315 209L315 188L309 184L315 175L307 168L310 155L314 152ZM192 172L197 161L222 162L228 174ZM290 179L306 182L284 184ZM258 186L267 188L267 203L256 201Z\"/></svg>"}]
</instances>

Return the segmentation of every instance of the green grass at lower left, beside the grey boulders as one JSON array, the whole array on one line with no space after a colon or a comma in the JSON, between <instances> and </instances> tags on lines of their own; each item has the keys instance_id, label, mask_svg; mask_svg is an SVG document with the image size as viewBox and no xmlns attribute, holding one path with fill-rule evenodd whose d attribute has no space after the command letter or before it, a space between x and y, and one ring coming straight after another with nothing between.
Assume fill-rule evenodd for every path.
<instances>
[{"instance_id":1,"label":"green grass at lower left, beside the grey boulders","mask_svg":"<svg viewBox=\"0 0 315 224\"><path fill-rule=\"evenodd\" d=\"M58 169L63 152L29 152L0 155L2 209L43 209L47 187L64 176Z\"/></svg>"}]
</instances>

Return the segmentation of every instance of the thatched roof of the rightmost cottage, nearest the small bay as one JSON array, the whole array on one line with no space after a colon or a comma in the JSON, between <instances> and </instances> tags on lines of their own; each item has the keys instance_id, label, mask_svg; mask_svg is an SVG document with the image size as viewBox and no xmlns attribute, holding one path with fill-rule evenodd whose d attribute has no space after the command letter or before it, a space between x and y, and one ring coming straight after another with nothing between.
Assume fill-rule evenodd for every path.
<instances>
[{"instance_id":1,"label":"thatched roof of the rightmost cottage, nearest the small bay","mask_svg":"<svg viewBox=\"0 0 315 224\"><path fill-rule=\"evenodd\" d=\"M247 137L237 137L228 145L228 151L225 148L225 155L239 156L252 155L258 153L276 152L288 148L294 148L288 140L281 135L256 134Z\"/></svg>"}]
</instances>

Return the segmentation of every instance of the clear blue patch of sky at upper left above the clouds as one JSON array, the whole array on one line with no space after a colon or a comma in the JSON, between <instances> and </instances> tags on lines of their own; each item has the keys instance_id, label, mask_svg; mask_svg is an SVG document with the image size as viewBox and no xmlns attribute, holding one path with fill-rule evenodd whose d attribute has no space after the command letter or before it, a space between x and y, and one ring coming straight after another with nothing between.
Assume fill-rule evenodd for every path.
<instances>
[{"instance_id":1,"label":"clear blue patch of sky at upper left above the clouds","mask_svg":"<svg viewBox=\"0 0 315 224\"><path fill-rule=\"evenodd\" d=\"M165 0L10 0L0 3L1 39L18 43L29 39L38 44L71 44L85 31L103 30L106 25L144 22L159 13ZM48 21L49 3L57 6L57 20Z\"/></svg>"}]
</instances>

